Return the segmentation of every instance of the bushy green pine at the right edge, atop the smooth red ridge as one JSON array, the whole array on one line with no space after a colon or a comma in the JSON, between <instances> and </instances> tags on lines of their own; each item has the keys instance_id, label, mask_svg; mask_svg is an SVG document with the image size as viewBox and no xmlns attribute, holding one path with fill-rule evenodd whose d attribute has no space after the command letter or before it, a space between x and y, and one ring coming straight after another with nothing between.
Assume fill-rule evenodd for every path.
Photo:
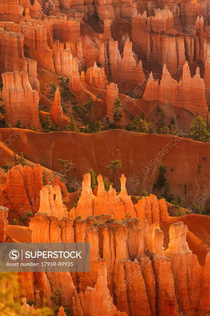
<instances>
[{"instance_id":1,"label":"bushy green pine at the right edge, atop the smooth red ridge","mask_svg":"<svg viewBox=\"0 0 210 316\"><path fill-rule=\"evenodd\" d=\"M199 142L209 142L209 132L207 131L207 125L204 119L198 113L195 113L194 123L191 126L192 139Z\"/></svg>"}]
</instances>

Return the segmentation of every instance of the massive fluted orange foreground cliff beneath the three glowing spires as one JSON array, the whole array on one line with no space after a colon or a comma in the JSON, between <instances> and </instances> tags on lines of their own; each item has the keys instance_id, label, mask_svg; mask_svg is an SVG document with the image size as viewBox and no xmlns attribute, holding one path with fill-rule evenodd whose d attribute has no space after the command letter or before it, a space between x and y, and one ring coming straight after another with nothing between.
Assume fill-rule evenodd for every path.
<instances>
[{"instance_id":1,"label":"massive fluted orange foreground cliff beneath the three glowing spires","mask_svg":"<svg viewBox=\"0 0 210 316\"><path fill-rule=\"evenodd\" d=\"M157 198L151 195L148 201L155 221ZM8 236L7 212L8 209L1 209L2 240ZM56 216L37 212L29 224L32 242L90 242L91 269L19 273L18 297L27 294L37 307L43 306L46 298L50 305L50 295L59 286L65 294L65 306L71 308L73 316L101 315L101 311L107 316L209 312L209 255L205 267L201 267L188 248L187 226L183 222L170 226L170 243L164 251L164 233L157 222L149 223L151 214L146 217L142 211L139 218L119 221L111 215L59 220L58 210ZM62 315L62 308L59 313Z\"/></svg>"}]
</instances>

